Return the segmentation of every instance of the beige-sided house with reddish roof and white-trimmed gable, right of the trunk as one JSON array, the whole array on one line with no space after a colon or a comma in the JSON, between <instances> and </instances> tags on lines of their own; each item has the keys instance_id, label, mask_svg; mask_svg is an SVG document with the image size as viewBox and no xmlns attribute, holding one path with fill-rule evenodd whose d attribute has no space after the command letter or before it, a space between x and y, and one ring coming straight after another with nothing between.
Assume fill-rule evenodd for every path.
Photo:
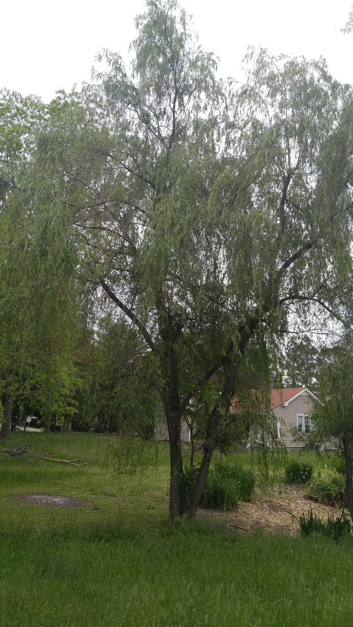
<instances>
[{"instance_id":1,"label":"beige-sided house with reddish roof and white-trimmed gable, right of the trunk","mask_svg":"<svg viewBox=\"0 0 353 627\"><path fill-rule=\"evenodd\" d=\"M288 450L299 450L304 448L302 442L293 439L293 431L298 429L301 433L310 430L310 413L316 398L315 394L303 387L281 387L271 389L271 410L276 421L278 438ZM236 413L236 401L230 408L232 413Z\"/></svg>"}]
</instances>

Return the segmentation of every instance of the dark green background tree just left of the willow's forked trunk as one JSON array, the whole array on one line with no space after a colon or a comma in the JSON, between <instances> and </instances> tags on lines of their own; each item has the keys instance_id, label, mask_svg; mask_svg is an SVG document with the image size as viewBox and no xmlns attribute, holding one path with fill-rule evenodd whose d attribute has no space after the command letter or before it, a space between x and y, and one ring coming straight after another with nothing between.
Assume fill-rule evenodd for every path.
<instances>
[{"instance_id":1,"label":"dark green background tree just left of the willow's forked trunk","mask_svg":"<svg viewBox=\"0 0 353 627\"><path fill-rule=\"evenodd\" d=\"M111 315L99 321L90 345L86 416L119 434L154 435L158 393L151 389L153 353L134 327Z\"/></svg>"}]
</instances>

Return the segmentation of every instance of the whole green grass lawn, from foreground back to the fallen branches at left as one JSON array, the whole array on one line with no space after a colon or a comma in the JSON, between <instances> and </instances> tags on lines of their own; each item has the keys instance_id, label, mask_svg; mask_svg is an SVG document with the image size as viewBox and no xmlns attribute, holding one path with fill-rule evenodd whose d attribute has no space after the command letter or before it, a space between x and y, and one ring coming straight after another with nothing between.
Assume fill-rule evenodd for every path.
<instances>
[{"instance_id":1,"label":"whole green grass lawn, from foreground back to the fallen branches at left","mask_svg":"<svg viewBox=\"0 0 353 627\"><path fill-rule=\"evenodd\" d=\"M0 461L1 626L353 623L350 540L234 534L225 525L212 529L202 514L193 525L171 524L165 446L147 476L117 478L104 467L109 436L39 437L43 451L80 453L87 466ZM19 445L38 435L16 433L11 440ZM14 500L24 493L85 498L90 505Z\"/></svg>"}]
</instances>

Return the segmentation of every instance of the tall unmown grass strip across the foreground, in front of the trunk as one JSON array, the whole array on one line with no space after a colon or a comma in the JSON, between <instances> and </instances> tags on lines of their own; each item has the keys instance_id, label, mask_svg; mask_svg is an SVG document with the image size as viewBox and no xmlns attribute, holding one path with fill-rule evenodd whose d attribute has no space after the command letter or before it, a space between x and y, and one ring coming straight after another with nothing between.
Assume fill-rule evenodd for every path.
<instances>
[{"instance_id":1,"label":"tall unmown grass strip across the foreground, in front of the trunk","mask_svg":"<svg viewBox=\"0 0 353 627\"><path fill-rule=\"evenodd\" d=\"M127 525L104 522L104 512L95 524L48 525L40 535L18 525L0 535L0 624L349 625L352 557L344 539L229 535L183 522Z\"/></svg>"}]
</instances>

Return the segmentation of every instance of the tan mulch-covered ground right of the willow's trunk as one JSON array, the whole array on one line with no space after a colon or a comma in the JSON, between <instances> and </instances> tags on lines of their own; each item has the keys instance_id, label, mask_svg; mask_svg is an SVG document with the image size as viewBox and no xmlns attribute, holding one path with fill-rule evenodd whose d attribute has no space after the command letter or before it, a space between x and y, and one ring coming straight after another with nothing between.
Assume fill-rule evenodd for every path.
<instances>
[{"instance_id":1,"label":"tan mulch-covered ground right of the willow's trunk","mask_svg":"<svg viewBox=\"0 0 353 627\"><path fill-rule=\"evenodd\" d=\"M298 522L292 516L300 517L303 512L307 514L310 507L313 513L318 514L323 520L328 514L339 515L340 509L315 503L305 498L301 490L288 490L278 497L256 495L250 502L239 502L234 512L207 512L207 517L216 516L229 520L229 527L234 530L254 531L263 529L266 532L285 531L291 535L298 533Z\"/></svg>"}]
</instances>

